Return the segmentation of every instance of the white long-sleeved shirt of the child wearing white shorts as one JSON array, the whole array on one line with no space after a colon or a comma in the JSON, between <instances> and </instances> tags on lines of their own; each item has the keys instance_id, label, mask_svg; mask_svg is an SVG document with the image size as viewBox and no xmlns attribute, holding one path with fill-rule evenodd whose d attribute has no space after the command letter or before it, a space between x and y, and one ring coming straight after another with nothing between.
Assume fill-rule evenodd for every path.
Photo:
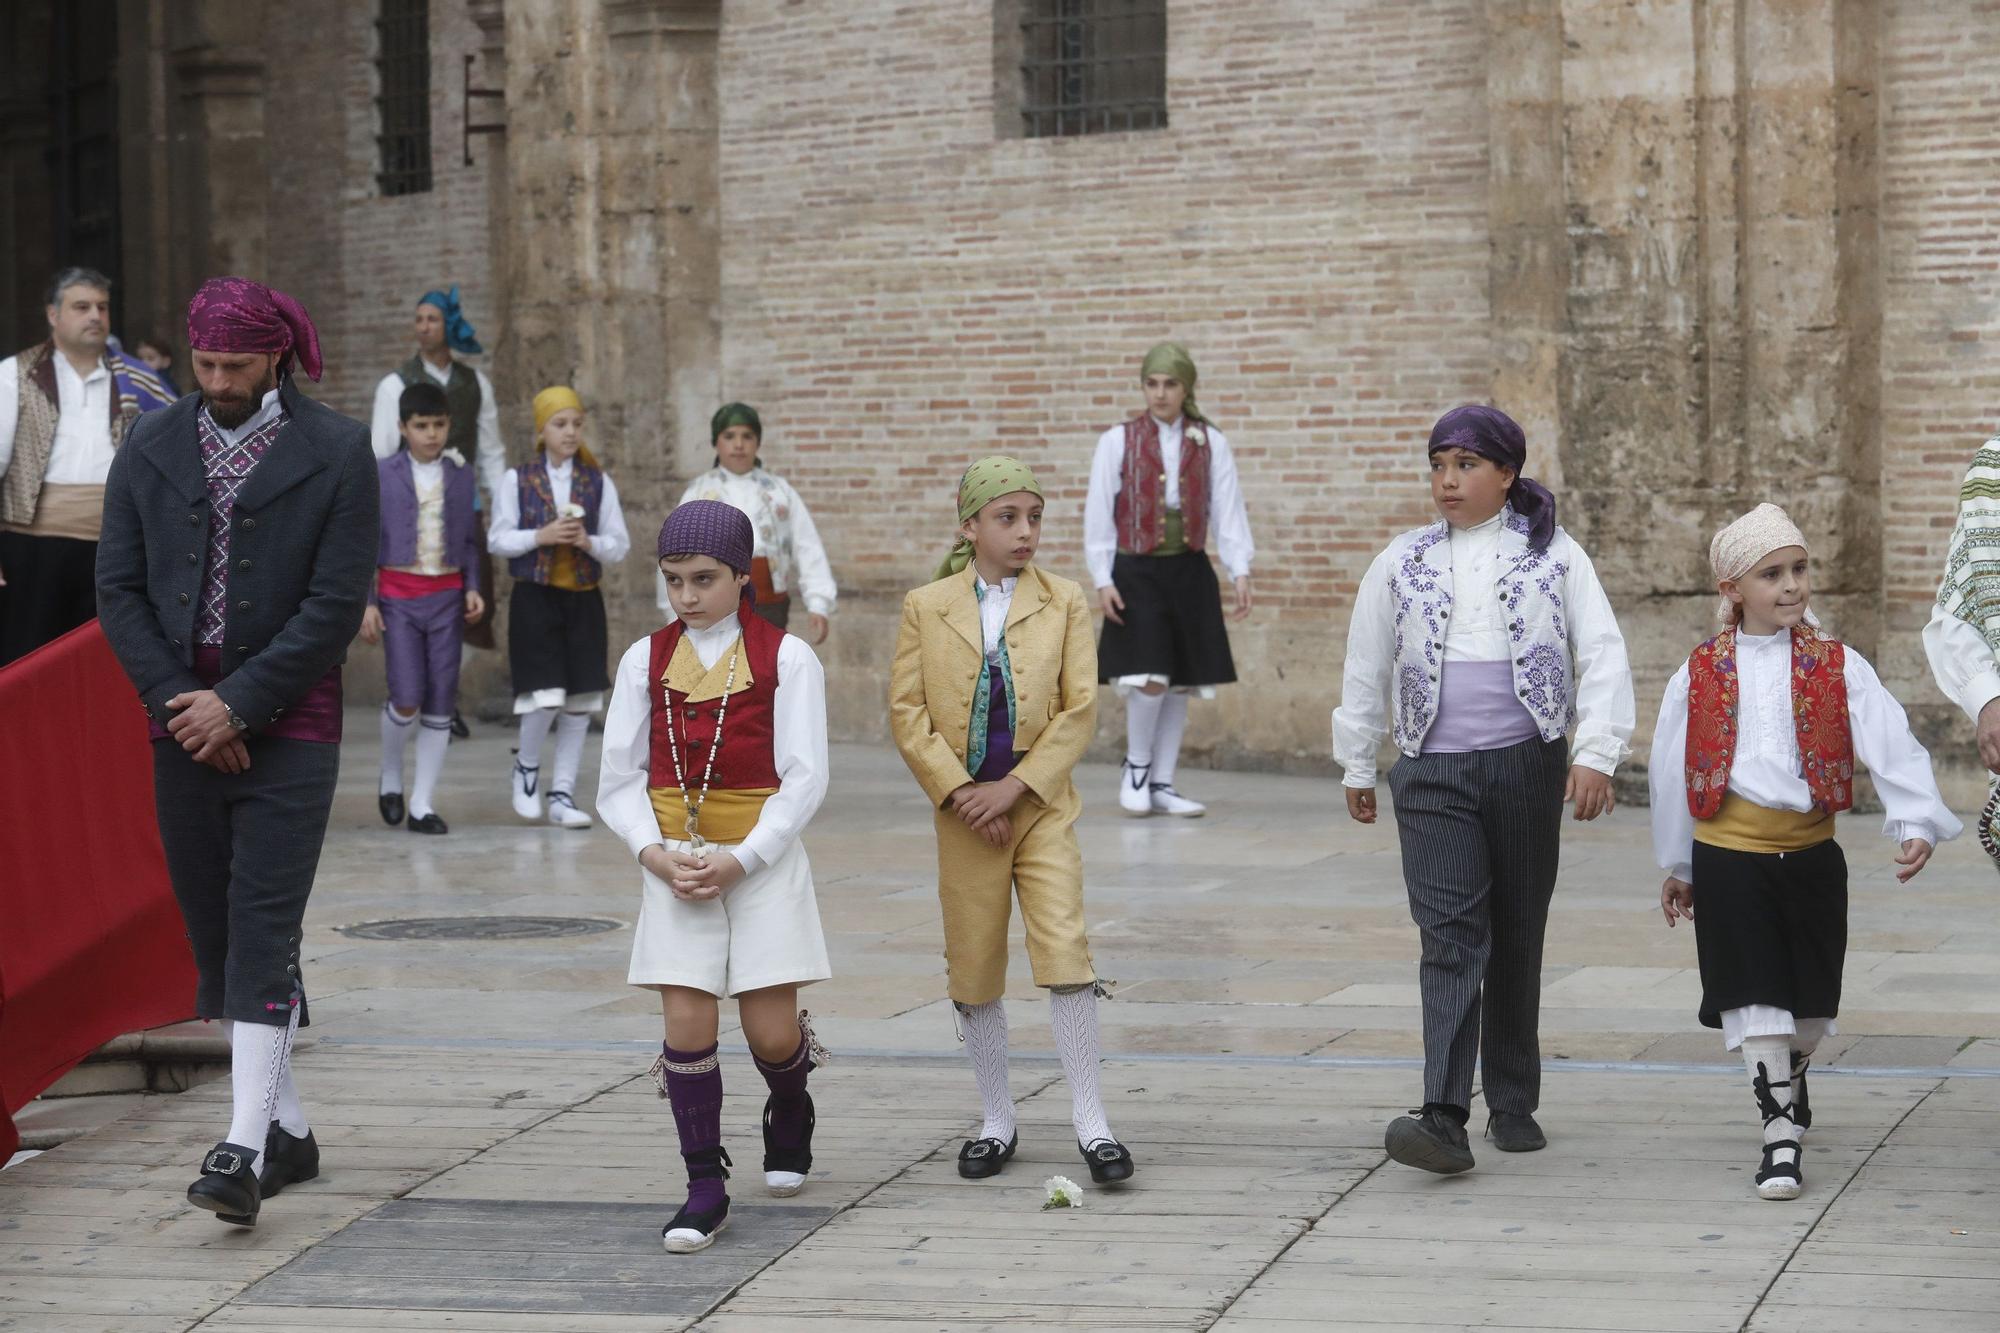
<instances>
[{"instance_id":1,"label":"white long-sleeved shirt of the child wearing white shorts","mask_svg":"<svg viewBox=\"0 0 2000 1333\"><path fill-rule=\"evenodd\" d=\"M702 666L714 666L742 634L736 614L708 628L686 630ZM638 857L666 845L652 809L652 636L640 638L618 658L612 707L604 715L604 761L598 769L598 817ZM722 719L724 729L728 717ZM774 865L798 841L826 799L826 673L798 634L778 644L778 691L772 699L772 757L778 791L764 803L750 837L730 849L744 871ZM690 789L696 775L688 775Z\"/></svg>"}]
</instances>

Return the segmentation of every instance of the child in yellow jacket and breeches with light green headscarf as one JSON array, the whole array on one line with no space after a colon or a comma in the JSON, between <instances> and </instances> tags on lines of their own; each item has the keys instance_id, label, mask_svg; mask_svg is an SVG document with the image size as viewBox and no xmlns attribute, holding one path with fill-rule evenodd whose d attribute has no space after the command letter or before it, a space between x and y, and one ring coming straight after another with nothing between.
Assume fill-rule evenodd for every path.
<instances>
[{"instance_id":1,"label":"child in yellow jacket and breeches with light green headscarf","mask_svg":"<svg viewBox=\"0 0 2000 1333\"><path fill-rule=\"evenodd\" d=\"M1070 773L1096 725L1096 650L1084 590L1034 568L1042 488L1014 458L980 458L958 484L958 542L902 602L890 731L936 807L948 993L986 1119L958 1175L1014 1155L1006 1087L1006 933L1020 897L1034 983L1070 1081L1076 1147L1098 1183L1132 1177L1098 1093L1098 995L1084 939L1082 799Z\"/></svg>"}]
</instances>

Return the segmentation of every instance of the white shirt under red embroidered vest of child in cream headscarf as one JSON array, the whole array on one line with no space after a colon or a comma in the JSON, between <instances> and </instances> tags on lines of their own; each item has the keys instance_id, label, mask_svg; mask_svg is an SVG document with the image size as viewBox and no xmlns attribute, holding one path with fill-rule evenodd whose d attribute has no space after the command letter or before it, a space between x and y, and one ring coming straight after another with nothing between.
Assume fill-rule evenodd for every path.
<instances>
[{"instance_id":1,"label":"white shirt under red embroidered vest of child in cream headscarf","mask_svg":"<svg viewBox=\"0 0 2000 1333\"><path fill-rule=\"evenodd\" d=\"M1882 799L1882 833L1896 843L1922 839L1936 847L1962 833L1938 795L1930 755L1910 735L1902 705L1852 646L1846 648L1848 729L1854 757L1874 777ZM1652 849L1660 869L1694 883L1694 815L1688 811L1688 666L1666 683L1660 721L1652 729ZM1730 791L1768 811L1806 813L1812 791L1798 755L1792 719L1792 634L1736 634L1736 757Z\"/></svg>"}]
</instances>

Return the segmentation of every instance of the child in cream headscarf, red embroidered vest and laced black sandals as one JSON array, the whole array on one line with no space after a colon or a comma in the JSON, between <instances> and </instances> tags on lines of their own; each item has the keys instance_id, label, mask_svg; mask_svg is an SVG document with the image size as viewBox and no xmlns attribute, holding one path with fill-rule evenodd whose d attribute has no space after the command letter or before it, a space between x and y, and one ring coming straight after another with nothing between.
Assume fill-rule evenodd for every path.
<instances>
[{"instance_id":1,"label":"child in cream headscarf, red embroidered vest and laced black sandals","mask_svg":"<svg viewBox=\"0 0 2000 1333\"><path fill-rule=\"evenodd\" d=\"M1860 652L1808 608L1806 538L1776 504L1716 534L1724 630L1668 681L1652 733L1652 843L1666 925L1702 915L1694 947L1706 1027L1742 1051L1764 1117L1756 1191L1796 1199L1812 1107L1806 1067L1832 1035L1848 949L1848 863L1834 815L1854 759L1874 775L1908 883L1960 833L1930 755Z\"/></svg>"}]
</instances>

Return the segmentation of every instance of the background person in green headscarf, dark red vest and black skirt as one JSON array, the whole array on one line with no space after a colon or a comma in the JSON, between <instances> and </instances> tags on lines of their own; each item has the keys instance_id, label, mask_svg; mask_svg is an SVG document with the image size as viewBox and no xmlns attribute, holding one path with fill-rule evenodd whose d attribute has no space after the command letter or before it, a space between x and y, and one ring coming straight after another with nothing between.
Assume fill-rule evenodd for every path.
<instances>
[{"instance_id":1,"label":"background person in green headscarf, dark red vest and black skirt","mask_svg":"<svg viewBox=\"0 0 2000 1333\"><path fill-rule=\"evenodd\" d=\"M1098 681L1126 707L1118 809L1130 817L1206 813L1174 789L1188 697L1236 679L1214 548L1250 614L1250 518L1230 442L1194 404L1194 358L1162 342L1140 364L1146 410L1098 436L1084 498L1084 560L1104 636Z\"/></svg>"}]
</instances>

